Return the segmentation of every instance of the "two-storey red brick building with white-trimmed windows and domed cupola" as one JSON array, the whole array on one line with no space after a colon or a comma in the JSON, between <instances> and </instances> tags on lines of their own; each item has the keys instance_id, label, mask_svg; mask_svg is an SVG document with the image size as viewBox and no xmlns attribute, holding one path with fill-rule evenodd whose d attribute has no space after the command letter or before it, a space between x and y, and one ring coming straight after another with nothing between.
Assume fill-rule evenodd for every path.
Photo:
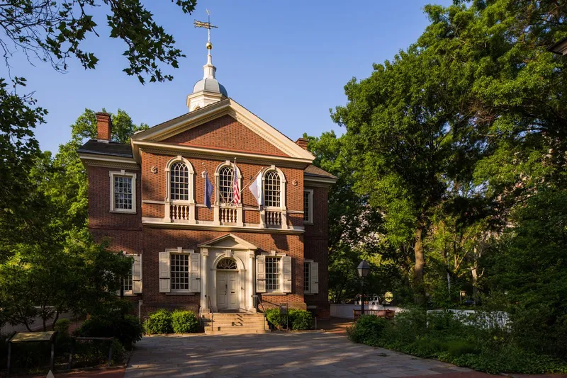
<instances>
[{"instance_id":1,"label":"two-storey red brick building with white-trimmed windows and domed cupola","mask_svg":"<svg viewBox=\"0 0 567 378\"><path fill-rule=\"evenodd\" d=\"M141 316L286 303L326 318L327 190L336 178L313 166L305 139L293 142L228 97L207 47L189 113L137 132L130 144L111 142L112 120L97 113L98 139L79 149L89 229L134 256L123 290Z\"/></svg>"}]
</instances>

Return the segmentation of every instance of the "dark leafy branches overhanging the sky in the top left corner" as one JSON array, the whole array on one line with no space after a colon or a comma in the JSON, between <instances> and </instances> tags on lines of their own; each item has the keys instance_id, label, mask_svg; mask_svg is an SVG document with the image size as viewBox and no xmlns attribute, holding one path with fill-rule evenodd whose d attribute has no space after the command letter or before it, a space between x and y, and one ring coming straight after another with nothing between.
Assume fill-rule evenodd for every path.
<instances>
[{"instance_id":1,"label":"dark leafy branches overhanging the sky in the top left corner","mask_svg":"<svg viewBox=\"0 0 567 378\"><path fill-rule=\"evenodd\" d=\"M193 12L196 0L172 0L186 14ZM137 76L143 84L170 81L159 63L178 67L184 57L175 47L172 35L157 25L141 0L12 0L0 8L0 28L4 31L0 47L9 67L9 58L20 50L28 60L48 62L57 71L66 71L69 57L79 60L85 69L94 69L99 59L83 50L89 35L96 35L96 21L89 14L96 7L107 9L106 23L111 38L120 38L127 46L123 56L128 75Z\"/></svg>"}]
</instances>

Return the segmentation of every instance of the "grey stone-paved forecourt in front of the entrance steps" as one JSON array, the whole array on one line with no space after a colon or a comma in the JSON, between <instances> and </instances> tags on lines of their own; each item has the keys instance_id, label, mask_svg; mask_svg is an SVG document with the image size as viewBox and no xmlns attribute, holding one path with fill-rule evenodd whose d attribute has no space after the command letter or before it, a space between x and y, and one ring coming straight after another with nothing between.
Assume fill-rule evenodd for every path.
<instances>
[{"instance_id":1,"label":"grey stone-paved forecourt in front of the entrance steps","mask_svg":"<svg viewBox=\"0 0 567 378\"><path fill-rule=\"evenodd\" d=\"M319 332L145 337L136 344L125 377L391 378L434 374L490 377L436 360L355 344L341 334Z\"/></svg>"}]
</instances>

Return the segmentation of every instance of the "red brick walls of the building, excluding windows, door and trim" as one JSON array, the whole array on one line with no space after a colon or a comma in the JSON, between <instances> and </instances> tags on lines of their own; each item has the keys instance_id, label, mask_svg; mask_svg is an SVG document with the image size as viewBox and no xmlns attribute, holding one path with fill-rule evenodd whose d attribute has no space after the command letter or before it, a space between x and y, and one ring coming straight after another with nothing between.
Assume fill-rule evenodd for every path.
<instances>
[{"instance_id":1,"label":"red brick walls of the building, excluding windows, door and trim","mask_svg":"<svg viewBox=\"0 0 567 378\"><path fill-rule=\"evenodd\" d=\"M242 190L242 214L246 227L227 228L207 226L213 224L214 210L203 205L205 181L201 176L208 171L214 190L215 170L223 164L223 156L198 156L180 153L192 166L193 198L195 202L195 221L193 224L168 224L165 198L167 197L167 165L176 154L167 150L167 145L190 145L207 149L223 149L225 151L245 151L260 156L257 159L237 159L240 168ZM273 307L287 303L290 307L313 309L318 317L329 316L328 291L328 258L327 258L327 188L324 186L308 187L304 185L304 169L308 164L293 161L282 161L269 156L287 156L281 149L266 141L245 125L237 122L229 115L211 120L206 124L175 134L162 141L163 150L140 149L139 155L130 168L120 168L120 164L98 163L86 161L89 176L89 228L94 237L101 241L108 239L113 251L142 256L142 294L129 297L133 301L140 300L142 316L146 316L158 308L184 307L198 309L203 304L198 292L188 294L172 294L159 290L159 253L168 248L183 248L199 253L199 244L206 243L225 234L247 241L257 246L255 253L283 253L291 256L292 285L288 294L262 294L264 307ZM262 157L263 156L263 157ZM266 157L267 156L267 157ZM286 183L286 229L259 229L260 212L252 193L247 186L262 168L276 166L283 172ZM138 168L134 168L137 166ZM111 212L110 172L136 173L136 208L135 214ZM313 179L311 179L313 180ZM313 190L313 224L303 224L303 191ZM212 201L215 202L213 192ZM162 222L162 223L160 223ZM256 225L252 227L252 225ZM248 226L249 225L249 226ZM318 263L319 291L317 294L304 294L303 262L305 259ZM249 273L248 273L249 274Z\"/></svg>"}]
</instances>

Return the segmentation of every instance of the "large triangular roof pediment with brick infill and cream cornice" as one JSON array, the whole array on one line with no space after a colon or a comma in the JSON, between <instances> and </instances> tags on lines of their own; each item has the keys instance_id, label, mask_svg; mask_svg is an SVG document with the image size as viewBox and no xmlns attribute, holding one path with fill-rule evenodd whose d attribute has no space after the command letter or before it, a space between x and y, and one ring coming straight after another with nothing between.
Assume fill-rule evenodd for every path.
<instances>
[{"instance_id":1,"label":"large triangular roof pediment with brick infill and cream cornice","mask_svg":"<svg viewBox=\"0 0 567 378\"><path fill-rule=\"evenodd\" d=\"M132 142L314 159L309 151L232 98L138 132L132 136Z\"/></svg>"}]
</instances>

